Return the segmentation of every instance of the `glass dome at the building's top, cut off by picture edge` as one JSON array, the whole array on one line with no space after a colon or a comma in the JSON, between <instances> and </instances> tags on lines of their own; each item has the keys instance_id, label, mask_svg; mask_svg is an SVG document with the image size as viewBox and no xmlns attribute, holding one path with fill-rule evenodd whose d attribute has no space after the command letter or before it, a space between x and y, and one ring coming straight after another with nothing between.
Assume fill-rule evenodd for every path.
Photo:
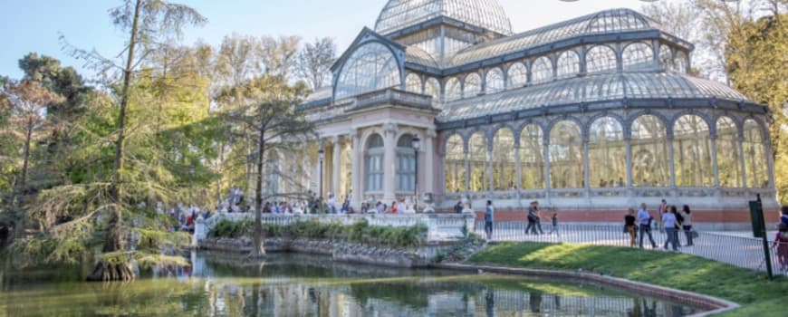
<instances>
[{"instance_id":1,"label":"glass dome at the building's top, cut off by picture edge","mask_svg":"<svg viewBox=\"0 0 788 317\"><path fill-rule=\"evenodd\" d=\"M512 23L496 0L389 0L380 12L375 31L389 34L438 16L512 34Z\"/></svg>"}]
</instances>

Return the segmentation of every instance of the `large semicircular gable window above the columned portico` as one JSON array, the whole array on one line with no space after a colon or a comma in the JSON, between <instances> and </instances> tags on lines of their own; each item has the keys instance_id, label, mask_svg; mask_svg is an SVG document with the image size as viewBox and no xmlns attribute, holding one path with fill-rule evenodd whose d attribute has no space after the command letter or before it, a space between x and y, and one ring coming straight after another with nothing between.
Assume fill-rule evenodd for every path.
<instances>
[{"instance_id":1,"label":"large semicircular gable window above the columned portico","mask_svg":"<svg viewBox=\"0 0 788 317\"><path fill-rule=\"evenodd\" d=\"M368 43L351 54L337 80L336 98L399 87L399 64L388 47Z\"/></svg>"}]
</instances>

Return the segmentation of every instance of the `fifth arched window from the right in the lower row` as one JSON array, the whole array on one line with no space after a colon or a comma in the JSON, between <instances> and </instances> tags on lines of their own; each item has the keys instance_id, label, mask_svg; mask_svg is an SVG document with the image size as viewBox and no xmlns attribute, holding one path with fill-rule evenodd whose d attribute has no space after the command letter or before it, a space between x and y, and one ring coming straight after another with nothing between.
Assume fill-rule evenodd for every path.
<instances>
[{"instance_id":1,"label":"fifth arched window from the right in the lower row","mask_svg":"<svg viewBox=\"0 0 788 317\"><path fill-rule=\"evenodd\" d=\"M589 130L589 166L591 187L624 187L627 177L627 153L624 130L612 117L594 120Z\"/></svg>"}]
</instances>

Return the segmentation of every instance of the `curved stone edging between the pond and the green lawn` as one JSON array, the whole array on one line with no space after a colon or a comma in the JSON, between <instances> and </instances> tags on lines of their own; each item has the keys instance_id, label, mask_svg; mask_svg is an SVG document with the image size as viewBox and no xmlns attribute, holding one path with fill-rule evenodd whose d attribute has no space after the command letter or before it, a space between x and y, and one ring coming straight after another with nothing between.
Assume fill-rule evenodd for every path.
<instances>
[{"instance_id":1,"label":"curved stone edging between the pond and the green lawn","mask_svg":"<svg viewBox=\"0 0 788 317\"><path fill-rule=\"evenodd\" d=\"M514 274L514 275L528 275L539 277L556 277L556 278L569 278L577 280L585 280L596 283L603 283L606 285L614 286L622 290L633 293L639 293L647 296L667 299L676 303L683 303L693 305L706 312L698 312L692 316L708 316L721 312L728 312L741 307L738 303L726 301L721 298L707 296L700 293L692 293L681 291L673 288L653 285L649 283L640 283L630 281L620 277L613 277L601 274L588 274L578 273L571 271L553 271L543 269L529 269L529 268L515 268L505 266L488 266L488 265L474 265L474 264L430 264L431 268L458 270L458 271L473 271L478 272L482 270L488 273L498 274Z\"/></svg>"}]
</instances>

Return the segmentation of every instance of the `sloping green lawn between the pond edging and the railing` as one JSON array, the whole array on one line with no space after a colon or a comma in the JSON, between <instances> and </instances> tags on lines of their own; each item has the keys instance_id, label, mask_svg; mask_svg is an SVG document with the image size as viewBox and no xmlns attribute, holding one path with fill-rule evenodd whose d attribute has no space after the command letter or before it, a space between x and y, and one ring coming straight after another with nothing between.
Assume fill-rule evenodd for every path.
<instances>
[{"instance_id":1,"label":"sloping green lawn between the pond edging and the railing","mask_svg":"<svg viewBox=\"0 0 788 317\"><path fill-rule=\"evenodd\" d=\"M467 261L508 267L591 271L632 281L703 293L741 304L724 315L785 316L788 279L766 280L729 264L694 255L642 251L614 246L502 243L487 247Z\"/></svg>"}]
</instances>

